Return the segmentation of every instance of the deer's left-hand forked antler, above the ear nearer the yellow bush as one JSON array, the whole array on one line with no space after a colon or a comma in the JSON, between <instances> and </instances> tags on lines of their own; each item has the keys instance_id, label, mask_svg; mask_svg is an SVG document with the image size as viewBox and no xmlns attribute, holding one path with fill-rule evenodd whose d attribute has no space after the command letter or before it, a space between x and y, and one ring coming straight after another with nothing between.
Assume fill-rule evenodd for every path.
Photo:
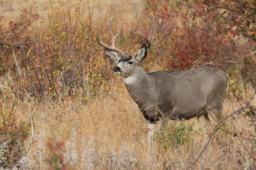
<instances>
[{"instance_id":1,"label":"deer's left-hand forked antler, above the ear nearer the yellow bush","mask_svg":"<svg viewBox=\"0 0 256 170\"><path fill-rule=\"evenodd\" d=\"M123 29L123 24L124 22L122 22L122 25L120 27L120 29L118 30L118 33L116 33L116 35L114 36L113 33L112 33L112 30L111 30L111 19L109 20L109 25L108 25L108 30L109 30L109 33L112 37L112 43L111 43L111 46L108 46L107 44L105 44L103 41L102 41L102 37L101 37L101 32L99 32L98 36L97 36L97 42L99 43L99 45L101 45L102 47L105 47L109 50L113 50L115 52L118 52L120 53L121 55L124 55L125 53L123 52L123 50L121 49L118 49L115 47L115 40L116 38L118 37L118 35L121 33L122 29ZM101 39L101 41L99 41L99 38Z\"/></svg>"}]
</instances>

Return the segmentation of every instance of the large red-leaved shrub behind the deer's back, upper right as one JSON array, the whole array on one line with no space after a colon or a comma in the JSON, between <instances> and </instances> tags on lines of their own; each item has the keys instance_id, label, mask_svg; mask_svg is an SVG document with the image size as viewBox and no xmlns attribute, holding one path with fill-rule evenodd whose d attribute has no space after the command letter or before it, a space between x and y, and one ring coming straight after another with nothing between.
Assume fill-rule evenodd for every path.
<instances>
[{"instance_id":1,"label":"large red-leaved shrub behind the deer's back, upper right","mask_svg":"<svg viewBox=\"0 0 256 170\"><path fill-rule=\"evenodd\" d=\"M210 65L226 70L229 75L236 70L236 78L245 75L244 83L255 84L254 1L148 4L160 17L159 27L166 32L157 43L162 61L167 63L166 70Z\"/></svg>"}]
</instances>

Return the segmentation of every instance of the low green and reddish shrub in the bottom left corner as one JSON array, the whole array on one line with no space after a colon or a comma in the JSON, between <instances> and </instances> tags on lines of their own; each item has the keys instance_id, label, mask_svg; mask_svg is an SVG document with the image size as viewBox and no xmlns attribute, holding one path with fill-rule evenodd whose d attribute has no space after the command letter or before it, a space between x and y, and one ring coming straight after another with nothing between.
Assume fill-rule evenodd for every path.
<instances>
[{"instance_id":1,"label":"low green and reddish shrub in the bottom left corner","mask_svg":"<svg viewBox=\"0 0 256 170\"><path fill-rule=\"evenodd\" d=\"M23 157L24 141L30 132L30 123L15 115L15 107L1 103L0 108L0 167L9 168Z\"/></svg>"}]
</instances>

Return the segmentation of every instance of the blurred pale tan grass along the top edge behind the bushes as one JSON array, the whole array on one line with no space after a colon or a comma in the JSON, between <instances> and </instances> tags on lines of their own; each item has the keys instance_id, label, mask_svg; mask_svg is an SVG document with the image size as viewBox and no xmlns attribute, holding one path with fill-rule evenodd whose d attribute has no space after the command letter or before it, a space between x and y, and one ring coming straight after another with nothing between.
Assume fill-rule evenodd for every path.
<instances>
[{"instance_id":1,"label":"blurred pale tan grass along the top edge behind the bushes","mask_svg":"<svg viewBox=\"0 0 256 170\"><path fill-rule=\"evenodd\" d=\"M13 19L19 18L19 16L21 15L21 9L29 9L30 7L32 7L32 11L37 12L40 15L40 19L35 22L35 25L40 25L41 27L42 25L40 22L45 22L48 18L49 4L52 4L55 7L57 2L58 0L4 0L2 1L4 8L2 8L3 11L0 12L2 13L2 16L5 17L5 19L10 19L12 21ZM71 2L74 3L77 1L71 0ZM93 9L94 12L93 18L96 21L99 16L109 16L110 18L112 18L112 21L118 21L119 23L121 23L121 21L125 21L123 32L135 33L134 29L136 28L134 28L134 25L137 25L138 20L143 19L143 21L147 22L147 19L149 17L149 15L144 15L145 10L148 8L148 4L146 1L82 0L81 4L82 7L85 7L85 9L87 9L86 7L90 5L91 9ZM113 27L113 29L115 28Z\"/></svg>"}]
</instances>

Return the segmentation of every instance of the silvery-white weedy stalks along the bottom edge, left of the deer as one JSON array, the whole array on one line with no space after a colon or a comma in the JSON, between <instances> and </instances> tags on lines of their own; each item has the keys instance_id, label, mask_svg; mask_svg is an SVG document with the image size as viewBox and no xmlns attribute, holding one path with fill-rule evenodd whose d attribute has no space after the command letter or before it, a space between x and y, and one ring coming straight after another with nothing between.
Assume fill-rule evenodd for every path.
<instances>
[{"instance_id":1,"label":"silvery-white weedy stalks along the bottom edge, left of the deer","mask_svg":"<svg viewBox=\"0 0 256 170\"><path fill-rule=\"evenodd\" d=\"M75 121L71 141L63 144L51 140L47 148L51 151L51 157L40 152L41 157L37 157L32 167L40 164L41 168L55 169L135 169L138 166L138 159L133 157L129 147L122 146L118 152L114 149L110 151L107 147L110 143L106 138L94 141L92 136L87 143L84 135L82 138L78 137L76 124ZM43 157L48 157L48 163L40 160Z\"/></svg>"}]
</instances>

